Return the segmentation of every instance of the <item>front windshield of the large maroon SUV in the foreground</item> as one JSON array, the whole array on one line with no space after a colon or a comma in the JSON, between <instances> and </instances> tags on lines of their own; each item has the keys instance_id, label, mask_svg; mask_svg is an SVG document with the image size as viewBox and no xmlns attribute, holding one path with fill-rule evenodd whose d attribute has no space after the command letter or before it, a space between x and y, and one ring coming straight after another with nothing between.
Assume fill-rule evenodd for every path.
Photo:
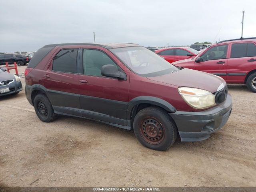
<instances>
[{"instance_id":1,"label":"front windshield of the large maroon SUV in the foreground","mask_svg":"<svg viewBox=\"0 0 256 192\"><path fill-rule=\"evenodd\" d=\"M132 71L140 75L178 71L178 68L144 47L123 47L110 50Z\"/></svg>"}]
</instances>

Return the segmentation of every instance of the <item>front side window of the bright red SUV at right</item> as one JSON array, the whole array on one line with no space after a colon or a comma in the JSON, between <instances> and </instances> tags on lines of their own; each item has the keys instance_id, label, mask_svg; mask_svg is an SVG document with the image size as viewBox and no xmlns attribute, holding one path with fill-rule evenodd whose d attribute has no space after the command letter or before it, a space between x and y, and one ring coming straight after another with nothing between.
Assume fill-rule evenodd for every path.
<instances>
[{"instance_id":1,"label":"front side window of the bright red SUV at right","mask_svg":"<svg viewBox=\"0 0 256 192\"><path fill-rule=\"evenodd\" d=\"M202 61L225 59L227 56L228 45L214 46L207 50L200 58Z\"/></svg>"}]
</instances>

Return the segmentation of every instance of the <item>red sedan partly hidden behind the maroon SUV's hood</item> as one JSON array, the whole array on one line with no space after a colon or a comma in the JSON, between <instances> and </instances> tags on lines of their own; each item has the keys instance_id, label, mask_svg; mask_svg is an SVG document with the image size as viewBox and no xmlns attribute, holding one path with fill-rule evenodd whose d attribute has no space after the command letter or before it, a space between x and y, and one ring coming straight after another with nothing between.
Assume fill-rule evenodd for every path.
<instances>
[{"instance_id":1,"label":"red sedan partly hidden behind the maroon SUV's hood","mask_svg":"<svg viewBox=\"0 0 256 192\"><path fill-rule=\"evenodd\" d=\"M172 63L183 59L194 58L199 52L189 47L169 47L156 50L155 53L169 63Z\"/></svg>"}]
</instances>

